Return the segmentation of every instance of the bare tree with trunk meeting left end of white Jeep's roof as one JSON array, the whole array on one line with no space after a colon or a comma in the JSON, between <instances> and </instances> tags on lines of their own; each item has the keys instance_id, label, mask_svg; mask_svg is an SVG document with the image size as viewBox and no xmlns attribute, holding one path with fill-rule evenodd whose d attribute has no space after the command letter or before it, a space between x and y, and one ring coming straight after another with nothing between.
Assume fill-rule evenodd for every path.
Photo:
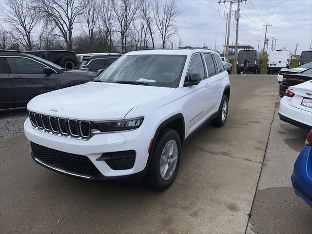
<instances>
[{"instance_id":1,"label":"bare tree with trunk meeting left end of white Jeep's roof","mask_svg":"<svg viewBox=\"0 0 312 234\"><path fill-rule=\"evenodd\" d=\"M127 39L132 22L137 20L141 0L111 0L117 20L121 53L127 53Z\"/></svg>"}]
</instances>

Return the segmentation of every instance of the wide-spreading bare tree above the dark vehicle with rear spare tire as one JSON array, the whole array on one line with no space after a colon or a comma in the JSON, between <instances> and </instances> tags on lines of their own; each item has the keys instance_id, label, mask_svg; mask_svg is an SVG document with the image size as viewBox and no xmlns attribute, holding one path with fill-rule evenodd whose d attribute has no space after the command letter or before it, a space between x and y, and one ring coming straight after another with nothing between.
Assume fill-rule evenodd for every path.
<instances>
[{"instance_id":1,"label":"wide-spreading bare tree above the dark vehicle with rear spare tire","mask_svg":"<svg viewBox=\"0 0 312 234\"><path fill-rule=\"evenodd\" d=\"M32 0L37 14L54 23L67 49L73 49L73 29L89 0Z\"/></svg>"}]
</instances>

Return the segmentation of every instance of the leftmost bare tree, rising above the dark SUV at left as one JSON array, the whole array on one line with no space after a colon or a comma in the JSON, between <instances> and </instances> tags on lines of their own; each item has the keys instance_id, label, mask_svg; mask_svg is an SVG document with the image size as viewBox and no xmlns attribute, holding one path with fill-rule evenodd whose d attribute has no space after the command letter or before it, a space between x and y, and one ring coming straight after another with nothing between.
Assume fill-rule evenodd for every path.
<instances>
[{"instance_id":1,"label":"leftmost bare tree, rising above the dark SUV at left","mask_svg":"<svg viewBox=\"0 0 312 234\"><path fill-rule=\"evenodd\" d=\"M23 0L7 0L4 10L3 22L10 30L7 32L11 37L25 47L26 50L33 49L32 32L39 22L39 17Z\"/></svg>"}]
</instances>

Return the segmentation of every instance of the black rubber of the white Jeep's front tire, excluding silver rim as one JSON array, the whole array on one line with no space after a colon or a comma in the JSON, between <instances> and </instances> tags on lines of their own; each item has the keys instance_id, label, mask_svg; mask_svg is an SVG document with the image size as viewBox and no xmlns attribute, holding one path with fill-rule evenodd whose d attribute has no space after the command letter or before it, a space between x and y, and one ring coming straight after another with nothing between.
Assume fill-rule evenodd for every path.
<instances>
[{"instance_id":1,"label":"black rubber of the white Jeep's front tire, excluding silver rim","mask_svg":"<svg viewBox=\"0 0 312 234\"><path fill-rule=\"evenodd\" d=\"M160 175L160 158L164 147L170 140L175 140L177 144L178 156L176 161L176 168L172 176L164 180ZM159 137L157 137L154 150L152 152L152 160L146 176L144 176L142 183L147 187L157 190L166 190L176 178L181 159L181 140L178 133L171 128L164 128L161 130Z\"/></svg>"}]
</instances>

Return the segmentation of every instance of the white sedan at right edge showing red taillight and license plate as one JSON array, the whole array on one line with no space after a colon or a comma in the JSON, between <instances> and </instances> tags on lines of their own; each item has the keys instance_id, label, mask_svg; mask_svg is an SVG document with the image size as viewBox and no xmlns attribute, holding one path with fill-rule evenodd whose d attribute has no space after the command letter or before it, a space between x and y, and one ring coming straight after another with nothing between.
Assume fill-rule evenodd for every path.
<instances>
[{"instance_id":1,"label":"white sedan at right edge showing red taillight and license plate","mask_svg":"<svg viewBox=\"0 0 312 234\"><path fill-rule=\"evenodd\" d=\"M285 91L278 115L292 125L312 129L312 80L291 86Z\"/></svg>"}]
</instances>

